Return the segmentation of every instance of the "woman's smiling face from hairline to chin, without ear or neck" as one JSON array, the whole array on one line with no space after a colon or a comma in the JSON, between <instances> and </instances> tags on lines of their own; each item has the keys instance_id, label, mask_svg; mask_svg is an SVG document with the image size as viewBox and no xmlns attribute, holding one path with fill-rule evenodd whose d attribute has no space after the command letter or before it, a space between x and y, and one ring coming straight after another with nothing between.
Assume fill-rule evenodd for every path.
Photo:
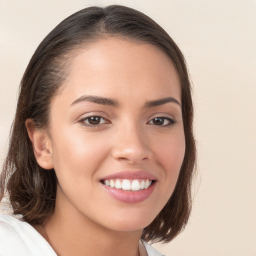
<instances>
[{"instance_id":1,"label":"woman's smiling face from hairline to chin, without ear or neck","mask_svg":"<svg viewBox=\"0 0 256 256\"><path fill-rule=\"evenodd\" d=\"M111 230L142 229L169 199L184 156L173 64L152 45L106 38L79 53L62 86L49 125L56 204Z\"/></svg>"}]
</instances>

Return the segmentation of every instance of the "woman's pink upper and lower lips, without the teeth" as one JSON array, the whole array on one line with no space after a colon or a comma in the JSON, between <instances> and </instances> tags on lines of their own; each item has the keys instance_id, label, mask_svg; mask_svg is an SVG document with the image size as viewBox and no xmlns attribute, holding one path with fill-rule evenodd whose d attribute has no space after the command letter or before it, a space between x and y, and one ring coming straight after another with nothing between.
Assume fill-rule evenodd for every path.
<instances>
[{"instance_id":1,"label":"woman's pink upper and lower lips, without the teeth","mask_svg":"<svg viewBox=\"0 0 256 256\"><path fill-rule=\"evenodd\" d=\"M105 189L105 191L108 194L110 194L113 198L126 203L137 203L147 199L153 192L155 183L157 180L156 176L144 170L115 172L113 174L104 176L100 180L117 179L117 178L130 179L130 180L131 179L155 180L148 188L140 189L136 191L117 189L115 187L106 186L103 183L101 183L103 189Z\"/></svg>"}]
</instances>

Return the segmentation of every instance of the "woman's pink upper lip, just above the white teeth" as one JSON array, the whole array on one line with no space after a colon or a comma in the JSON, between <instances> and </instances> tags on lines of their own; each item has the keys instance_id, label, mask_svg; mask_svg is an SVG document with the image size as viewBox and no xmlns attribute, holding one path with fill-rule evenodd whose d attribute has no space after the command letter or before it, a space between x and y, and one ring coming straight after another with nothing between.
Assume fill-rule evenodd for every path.
<instances>
[{"instance_id":1,"label":"woman's pink upper lip, just above the white teeth","mask_svg":"<svg viewBox=\"0 0 256 256\"><path fill-rule=\"evenodd\" d=\"M151 179L156 180L156 176L145 171L145 170L122 170L109 175L102 177L100 180L106 179L116 179L116 178L125 178L125 179Z\"/></svg>"}]
</instances>

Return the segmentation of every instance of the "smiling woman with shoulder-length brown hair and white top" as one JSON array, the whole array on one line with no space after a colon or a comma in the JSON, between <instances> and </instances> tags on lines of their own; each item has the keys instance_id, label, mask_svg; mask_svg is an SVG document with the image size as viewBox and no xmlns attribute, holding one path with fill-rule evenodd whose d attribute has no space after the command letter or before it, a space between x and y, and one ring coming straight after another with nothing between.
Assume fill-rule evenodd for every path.
<instances>
[{"instance_id":1,"label":"smiling woman with shoulder-length brown hair and white top","mask_svg":"<svg viewBox=\"0 0 256 256\"><path fill-rule=\"evenodd\" d=\"M24 222L1 215L0 255L161 255L146 242L190 213L192 114L183 56L149 17L64 19L21 81L0 198Z\"/></svg>"}]
</instances>

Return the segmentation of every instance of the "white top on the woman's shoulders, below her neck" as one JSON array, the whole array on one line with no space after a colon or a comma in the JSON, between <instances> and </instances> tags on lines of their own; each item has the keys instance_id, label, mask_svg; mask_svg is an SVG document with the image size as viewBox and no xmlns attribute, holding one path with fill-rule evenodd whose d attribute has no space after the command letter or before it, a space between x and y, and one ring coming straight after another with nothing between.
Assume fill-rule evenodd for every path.
<instances>
[{"instance_id":1,"label":"white top on the woman's shoulders, below her neck","mask_svg":"<svg viewBox=\"0 0 256 256\"><path fill-rule=\"evenodd\" d=\"M142 243L144 247L141 248L140 243L140 254L146 250L148 256L164 256L148 243ZM49 243L27 222L0 214L0 256L14 255L57 256Z\"/></svg>"}]
</instances>

